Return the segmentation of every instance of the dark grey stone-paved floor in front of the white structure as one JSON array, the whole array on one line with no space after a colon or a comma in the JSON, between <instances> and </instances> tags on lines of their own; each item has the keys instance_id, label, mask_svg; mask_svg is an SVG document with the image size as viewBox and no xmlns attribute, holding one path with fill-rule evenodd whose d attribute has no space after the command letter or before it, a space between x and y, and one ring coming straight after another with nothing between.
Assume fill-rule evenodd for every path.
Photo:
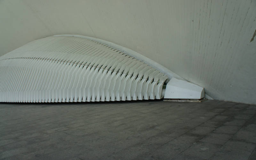
<instances>
[{"instance_id":1,"label":"dark grey stone-paved floor in front of the white structure","mask_svg":"<svg viewBox=\"0 0 256 160\"><path fill-rule=\"evenodd\" d=\"M0 103L0 159L256 159L256 106Z\"/></svg>"}]
</instances>

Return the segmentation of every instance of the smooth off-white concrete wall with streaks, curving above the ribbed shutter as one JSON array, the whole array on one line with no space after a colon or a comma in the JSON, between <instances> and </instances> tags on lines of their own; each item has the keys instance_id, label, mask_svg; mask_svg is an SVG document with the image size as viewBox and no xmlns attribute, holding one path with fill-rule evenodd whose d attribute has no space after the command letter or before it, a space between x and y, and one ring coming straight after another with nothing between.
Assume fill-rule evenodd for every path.
<instances>
[{"instance_id":1,"label":"smooth off-white concrete wall with streaks, curving above the ribbed shutter","mask_svg":"<svg viewBox=\"0 0 256 160\"><path fill-rule=\"evenodd\" d=\"M2 0L0 55L57 34L155 60L214 99L256 104L255 0Z\"/></svg>"}]
</instances>

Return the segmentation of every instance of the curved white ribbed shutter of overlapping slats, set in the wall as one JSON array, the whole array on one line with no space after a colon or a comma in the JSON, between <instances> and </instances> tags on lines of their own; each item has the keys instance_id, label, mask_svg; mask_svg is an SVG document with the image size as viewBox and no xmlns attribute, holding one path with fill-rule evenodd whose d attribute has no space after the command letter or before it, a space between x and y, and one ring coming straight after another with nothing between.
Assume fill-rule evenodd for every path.
<instances>
[{"instance_id":1,"label":"curved white ribbed shutter of overlapping slats, set in the wall","mask_svg":"<svg viewBox=\"0 0 256 160\"><path fill-rule=\"evenodd\" d=\"M1 102L161 99L161 71L100 42L51 36L0 57Z\"/></svg>"}]
</instances>

